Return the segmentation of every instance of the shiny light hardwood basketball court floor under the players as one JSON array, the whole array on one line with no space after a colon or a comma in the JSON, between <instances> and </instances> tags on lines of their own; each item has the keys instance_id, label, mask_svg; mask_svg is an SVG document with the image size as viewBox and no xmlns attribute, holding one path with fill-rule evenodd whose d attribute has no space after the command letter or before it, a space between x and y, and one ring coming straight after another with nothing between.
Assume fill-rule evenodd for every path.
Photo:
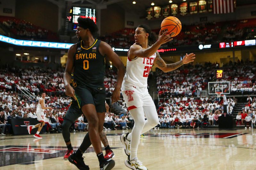
<instances>
[{"instance_id":1,"label":"shiny light hardwood basketball court floor under the players","mask_svg":"<svg viewBox=\"0 0 256 170\"><path fill-rule=\"evenodd\" d=\"M129 169L124 165L126 155L120 142L120 135L128 130L105 132L115 153L114 169ZM74 149L82 143L85 134L71 133ZM140 139L138 157L149 170L256 169L255 129L151 129L145 135ZM1 169L76 169L68 160L63 160L67 149L62 134L42 137L1 136ZM99 169L92 147L84 156L90 169Z\"/></svg>"}]
</instances>

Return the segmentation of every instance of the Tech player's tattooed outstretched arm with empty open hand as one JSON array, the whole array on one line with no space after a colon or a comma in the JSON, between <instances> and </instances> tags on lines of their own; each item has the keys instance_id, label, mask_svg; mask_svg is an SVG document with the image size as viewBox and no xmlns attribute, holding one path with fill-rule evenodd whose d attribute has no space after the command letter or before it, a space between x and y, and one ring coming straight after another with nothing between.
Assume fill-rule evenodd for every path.
<instances>
[{"instance_id":1,"label":"Tech player's tattooed outstretched arm with empty open hand","mask_svg":"<svg viewBox=\"0 0 256 170\"><path fill-rule=\"evenodd\" d=\"M157 68L161 69L162 71L169 72L169 71L172 71L172 70L175 70L175 69L179 68L183 64L193 62L195 58L196 57L195 57L194 53L191 53L189 55L186 54L185 57L182 60L180 60L176 63L166 64L164 62L164 60L160 57L159 53L156 52L156 59L154 61L154 64L156 65Z\"/></svg>"}]
</instances>

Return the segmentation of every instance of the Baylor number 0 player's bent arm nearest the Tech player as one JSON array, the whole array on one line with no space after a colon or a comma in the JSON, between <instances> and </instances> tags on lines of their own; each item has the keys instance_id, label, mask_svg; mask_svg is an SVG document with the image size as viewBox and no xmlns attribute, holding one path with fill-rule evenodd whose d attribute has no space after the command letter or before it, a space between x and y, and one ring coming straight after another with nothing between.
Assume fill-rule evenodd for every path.
<instances>
[{"instance_id":1,"label":"Baylor number 0 player's bent arm nearest the Tech player","mask_svg":"<svg viewBox=\"0 0 256 170\"><path fill-rule=\"evenodd\" d=\"M119 58L119 56L113 51L113 49L106 42L101 41L99 47L100 54L107 56L108 59L117 68L117 82L115 85L115 90L112 93L112 103L117 102L120 99L120 89L122 81L124 79L124 64Z\"/></svg>"}]
</instances>

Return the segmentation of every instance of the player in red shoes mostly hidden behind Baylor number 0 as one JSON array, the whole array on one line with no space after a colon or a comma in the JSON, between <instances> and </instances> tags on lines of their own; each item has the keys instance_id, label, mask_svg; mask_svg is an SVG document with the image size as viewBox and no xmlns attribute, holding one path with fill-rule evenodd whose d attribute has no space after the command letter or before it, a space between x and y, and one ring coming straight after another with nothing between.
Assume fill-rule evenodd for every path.
<instances>
[{"instance_id":1,"label":"player in red shoes mostly hidden behind Baylor number 0","mask_svg":"<svg viewBox=\"0 0 256 170\"><path fill-rule=\"evenodd\" d=\"M74 83L74 78L73 77L74 76L72 74L71 75L71 81L70 81L70 85L72 87L76 85ZM79 107L80 105L81 105L81 103L79 103L78 100L75 101L72 98L72 100L70 102L70 106L69 106L68 111L66 113L66 116L64 118L64 121L61 125L62 136L63 136L64 141L65 141L65 143L67 145L67 148L68 148L67 152L64 155L65 160L68 160L68 157L73 153L73 148L72 148L71 141L70 141L69 128L72 125L72 123L74 123L78 119L78 117L80 117L83 114L81 108ZM106 111L108 112L109 106L108 106L107 103L105 103L105 107L106 107ZM87 139L87 138L89 138L89 133L86 134L85 139ZM115 154L111 150L111 148L109 147L107 136L106 136L106 134L103 130L100 132L100 140L101 140L102 144L104 145L105 152L106 152L106 154L104 156L104 159L109 161L111 158L115 157ZM87 148L89 148L90 145L91 145L91 141L89 140L89 142L86 143L86 148L85 149L87 150Z\"/></svg>"}]
</instances>

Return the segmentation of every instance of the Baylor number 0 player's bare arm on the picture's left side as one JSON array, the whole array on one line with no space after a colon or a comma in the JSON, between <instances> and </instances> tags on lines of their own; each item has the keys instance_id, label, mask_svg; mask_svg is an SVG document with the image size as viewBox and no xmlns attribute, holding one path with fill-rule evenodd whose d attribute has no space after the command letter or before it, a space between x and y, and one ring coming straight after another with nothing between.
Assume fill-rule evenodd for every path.
<instances>
[{"instance_id":1,"label":"Baylor number 0 player's bare arm on the picture's left side","mask_svg":"<svg viewBox=\"0 0 256 170\"><path fill-rule=\"evenodd\" d=\"M73 99L76 100L75 97L75 90L71 87L71 85L69 84L71 81L71 73L74 67L74 55L76 53L76 44L72 45L69 49L68 49L68 59L67 59L67 63L66 63L66 69L63 75L63 81L65 84L65 88L66 88L66 95L69 97L72 97Z\"/></svg>"}]
</instances>

